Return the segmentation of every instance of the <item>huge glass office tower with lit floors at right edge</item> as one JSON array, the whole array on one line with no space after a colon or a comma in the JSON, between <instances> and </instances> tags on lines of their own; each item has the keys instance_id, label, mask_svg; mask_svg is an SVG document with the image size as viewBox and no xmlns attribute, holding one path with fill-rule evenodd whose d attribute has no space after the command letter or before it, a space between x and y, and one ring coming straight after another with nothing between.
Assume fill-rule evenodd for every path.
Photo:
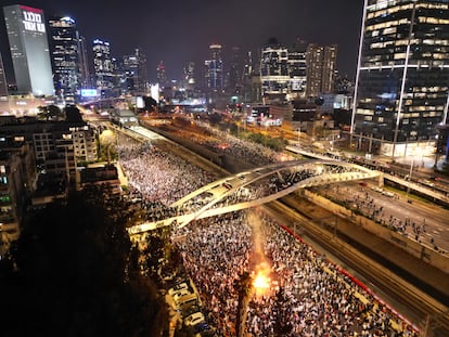
<instances>
[{"instance_id":1,"label":"huge glass office tower with lit floors at right edge","mask_svg":"<svg viewBox=\"0 0 449 337\"><path fill-rule=\"evenodd\" d=\"M365 0L351 133L415 154L447 122L449 2Z\"/></svg>"}]
</instances>

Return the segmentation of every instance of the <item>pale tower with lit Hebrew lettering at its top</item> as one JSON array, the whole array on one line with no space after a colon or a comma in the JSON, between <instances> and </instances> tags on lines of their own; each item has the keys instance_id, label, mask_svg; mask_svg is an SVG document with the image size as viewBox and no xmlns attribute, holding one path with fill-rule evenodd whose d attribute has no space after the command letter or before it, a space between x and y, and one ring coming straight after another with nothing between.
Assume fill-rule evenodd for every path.
<instances>
[{"instance_id":1,"label":"pale tower with lit Hebrew lettering at its top","mask_svg":"<svg viewBox=\"0 0 449 337\"><path fill-rule=\"evenodd\" d=\"M53 95L53 79L43 11L14 4L3 8L17 90Z\"/></svg>"}]
</instances>

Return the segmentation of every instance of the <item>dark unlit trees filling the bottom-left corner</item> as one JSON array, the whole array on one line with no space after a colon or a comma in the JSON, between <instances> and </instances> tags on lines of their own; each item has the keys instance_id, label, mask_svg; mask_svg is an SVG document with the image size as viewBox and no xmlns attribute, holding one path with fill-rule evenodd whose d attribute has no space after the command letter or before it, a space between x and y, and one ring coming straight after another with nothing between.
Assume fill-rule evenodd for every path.
<instances>
[{"instance_id":1,"label":"dark unlit trees filling the bottom-left corner","mask_svg":"<svg viewBox=\"0 0 449 337\"><path fill-rule=\"evenodd\" d=\"M91 186L28 219L0 262L2 336L161 336L166 306L138 271L128 218Z\"/></svg>"}]
</instances>

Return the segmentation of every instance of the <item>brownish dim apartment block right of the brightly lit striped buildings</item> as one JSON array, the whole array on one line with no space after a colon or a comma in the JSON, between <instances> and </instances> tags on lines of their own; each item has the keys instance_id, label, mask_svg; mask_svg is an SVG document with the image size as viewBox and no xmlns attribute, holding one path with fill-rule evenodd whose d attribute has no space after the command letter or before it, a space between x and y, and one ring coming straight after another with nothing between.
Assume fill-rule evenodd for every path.
<instances>
[{"instance_id":1,"label":"brownish dim apartment block right of the brightly lit striped buildings","mask_svg":"<svg viewBox=\"0 0 449 337\"><path fill-rule=\"evenodd\" d=\"M307 89L308 98L317 98L322 93L334 91L336 70L336 46L307 46Z\"/></svg>"}]
</instances>

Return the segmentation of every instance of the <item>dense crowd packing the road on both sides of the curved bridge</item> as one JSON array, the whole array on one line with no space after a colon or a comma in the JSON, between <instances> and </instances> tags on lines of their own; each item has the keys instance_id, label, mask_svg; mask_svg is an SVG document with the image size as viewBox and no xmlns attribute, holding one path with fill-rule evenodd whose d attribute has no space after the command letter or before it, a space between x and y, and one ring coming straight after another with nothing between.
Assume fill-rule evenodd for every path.
<instances>
[{"instance_id":1,"label":"dense crowd packing the road on both sides of the curved bridge","mask_svg":"<svg viewBox=\"0 0 449 337\"><path fill-rule=\"evenodd\" d=\"M149 144L120 142L119 157L130 193L155 218L170 215L169 205L215 180ZM272 291L251 291L242 325L246 336L273 336L279 324L291 325L285 336L418 336L336 265L268 217L239 211L196 220L175 231L174 242L220 336L235 336L238 281L262 263L269 268L271 290L282 291L284 300ZM283 322L280 307L292 309L285 310Z\"/></svg>"}]
</instances>

